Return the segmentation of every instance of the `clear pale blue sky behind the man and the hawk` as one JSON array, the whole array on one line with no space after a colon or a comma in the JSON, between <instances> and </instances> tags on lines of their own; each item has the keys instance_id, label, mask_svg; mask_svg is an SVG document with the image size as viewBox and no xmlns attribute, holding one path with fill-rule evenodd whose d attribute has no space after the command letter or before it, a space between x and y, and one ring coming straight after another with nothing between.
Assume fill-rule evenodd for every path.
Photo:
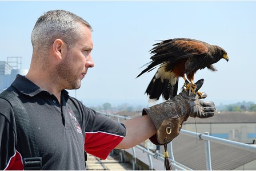
<instances>
[{"instance_id":1,"label":"clear pale blue sky behind the man and the hawk","mask_svg":"<svg viewBox=\"0 0 256 171\"><path fill-rule=\"evenodd\" d=\"M151 105L145 90L157 70L136 77L150 62L153 44L172 38L198 39L227 51L229 62L214 64L217 72L195 75L205 79L205 100L256 103L256 1L0 1L0 61L22 56L22 69L29 69L34 24L55 9L79 15L94 30L95 66L81 88L69 91L86 105ZM182 84L180 79L179 89Z\"/></svg>"}]
</instances>

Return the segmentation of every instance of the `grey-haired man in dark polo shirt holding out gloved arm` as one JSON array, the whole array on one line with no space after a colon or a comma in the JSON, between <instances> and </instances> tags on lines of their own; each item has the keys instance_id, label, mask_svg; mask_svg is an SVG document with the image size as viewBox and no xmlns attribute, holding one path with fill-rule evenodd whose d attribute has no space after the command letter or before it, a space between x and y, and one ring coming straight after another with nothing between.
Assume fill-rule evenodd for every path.
<instances>
[{"instance_id":1,"label":"grey-haired man in dark polo shirt holding out gloved arm","mask_svg":"<svg viewBox=\"0 0 256 171\"><path fill-rule=\"evenodd\" d=\"M33 56L29 72L26 76L18 75L7 89L15 92L29 115L43 170L85 170L84 150L104 159L114 148L131 148L149 137L162 135L159 123L169 120L172 114L165 115L165 110L156 123L154 113L158 109L155 111L154 107L162 109L167 105L167 111L179 111L175 115L186 116L185 120L189 116L214 115L213 103L201 104L196 98L177 95L173 100L145 109L143 116L119 124L70 97L65 89L78 89L87 70L94 67L91 31L89 23L69 11L54 10L42 15L31 34ZM69 99L78 110L81 125L67 104ZM201 105L209 108L206 113ZM1 170L23 169L26 141L17 131L9 101L0 98L0 107ZM163 144L160 139L157 137L155 143ZM166 139L169 143L173 138Z\"/></svg>"}]
</instances>

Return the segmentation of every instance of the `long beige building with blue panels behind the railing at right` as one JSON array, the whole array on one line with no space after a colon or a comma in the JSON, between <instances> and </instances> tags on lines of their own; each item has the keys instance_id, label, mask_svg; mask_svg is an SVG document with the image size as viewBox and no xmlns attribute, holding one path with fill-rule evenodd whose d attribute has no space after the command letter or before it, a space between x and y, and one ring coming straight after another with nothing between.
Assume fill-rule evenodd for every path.
<instances>
[{"instance_id":1,"label":"long beige building with blue panels behind the railing at right","mask_svg":"<svg viewBox=\"0 0 256 171\"><path fill-rule=\"evenodd\" d=\"M198 133L209 132L211 136L256 144L256 112L220 112L207 119L189 119L183 129Z\"/></svg>"}]
</instances>

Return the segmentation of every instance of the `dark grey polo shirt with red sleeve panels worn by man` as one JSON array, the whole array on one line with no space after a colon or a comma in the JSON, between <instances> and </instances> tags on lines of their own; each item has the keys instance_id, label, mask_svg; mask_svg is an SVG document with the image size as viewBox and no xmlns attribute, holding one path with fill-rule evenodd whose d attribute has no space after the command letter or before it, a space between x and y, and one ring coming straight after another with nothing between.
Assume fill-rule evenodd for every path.
<instances>
[{"instance_id":1,"label":"dark grey polo shirt with red sleeve panels worn by man","mask_svg":"<svg viewBox=\"0 0 256 171\"><path fill-rule=\"evenodd\" d=\"M26 109L34 129L43 170L85 170L84 150L105 159L125 137L123 124L110 119L61 92L61 104L51 93L25 76L17 75L11 84ZM82 125L67 104L73 98ZM0 98L1 170L22 170L22 146L17 133L13 108Z\"/></svg>"}]
</instances>

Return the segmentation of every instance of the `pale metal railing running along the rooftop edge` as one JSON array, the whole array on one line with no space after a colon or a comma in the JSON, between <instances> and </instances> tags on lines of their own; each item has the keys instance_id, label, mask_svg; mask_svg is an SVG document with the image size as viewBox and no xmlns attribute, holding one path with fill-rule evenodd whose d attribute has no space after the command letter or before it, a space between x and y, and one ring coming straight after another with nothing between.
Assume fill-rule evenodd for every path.
<instances>
[{"instance_id":1,"label":"pale metal railing running along the rooftop edge","mask_svg":"<svg viewBox=\"0 0 256 171\"><path fill-rule=\"evenodd\" d=\"M108 113L102 113L103 115L106 115L108 117L111 117L112 119L115 119L116 121L120 121L119 119L131 119L131 117L129 116L120 116L120 115L113 115L113 114L108 114ZM231 141L231 140L226 140L226 139L221 139L218 137L214 137L214 136L210 136L209 132L205 132L205 133L196 133L196 132L191 132L191 131L186 131L184 129L181 129L181 134L185 134L185 135L189 135L189 136L193 136L193 137L199 137L200 140L204 140L205 141L205 154L206 154L206 168L207 170L212 170L211 167L211 151L210 151L210 141L213 141L215 143L218 144L225 144L225 145L229 145L229 146L233 146L235 148L239 148L239 149L243 149L243 150L248 150L250 152L256 152L256 146L253 145L249 145L249 144L245 144L245 143L239 143L237 141ZM185 165L182 165L181 163L175 161L174 159L174 155L173 155L173 145L172 142L168 144L168 152L170 155L170 160L171 160L171 164L173 165L173 168L175 170L193 170L188 168ZM146 148L145 146L142 145L137 145L135 147L133 147L133 170L136 170L137 168L137 162L136 162L136 153L135 153L135 148L142 150L143 153L147 154L147 157L149 158L149 169L153 170L154 166L153 166L153 161L152 161L152 157L156 158L159 161L165 161L165 158L163 156L163 154L158 153L157 150L152 151L149 150L148 148Z\"/></svg>"}]
</instances>

